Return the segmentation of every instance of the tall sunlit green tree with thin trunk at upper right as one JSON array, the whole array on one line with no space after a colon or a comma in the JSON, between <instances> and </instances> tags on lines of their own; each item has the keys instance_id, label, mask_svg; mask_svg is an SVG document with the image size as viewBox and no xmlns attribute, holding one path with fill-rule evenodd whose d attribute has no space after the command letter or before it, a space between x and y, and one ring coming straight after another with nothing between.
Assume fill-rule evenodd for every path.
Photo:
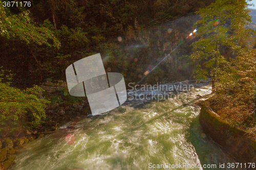
<instances>
[{"instance_id":1,"label":"tall sunlit green tree with thin trunk at upper right","mask_svg":"<svg viewBox=\"0 0 256 170\"><path fill-rule=\"evenodd\" d=\"M217 0L198 11L202 19L195 26L200 39L193 43L190 58L198 63L197 79L206 79L210 72L213 91L216 80L230 71L230 57L242 54L246 40L255 34L244 28L251 21L248 6L246 0Z\"/></svg>"}]
</instances>

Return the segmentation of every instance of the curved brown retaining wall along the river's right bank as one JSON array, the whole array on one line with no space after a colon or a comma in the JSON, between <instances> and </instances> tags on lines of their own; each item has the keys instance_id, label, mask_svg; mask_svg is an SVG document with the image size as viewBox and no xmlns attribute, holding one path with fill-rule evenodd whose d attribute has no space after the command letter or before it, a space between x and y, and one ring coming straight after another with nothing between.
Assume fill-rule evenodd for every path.
<instances>
[{"instance_id":1,"label":"curved brown retaining wall along the river's right bank","mask_svg":"<svg viewBox=\"0 0 256 170\"><path fill-rule=\"evenodd\" d=\"M243 163L256 162L256 140L251 133L229 125L211 110L207 101L201 108L199 121L203 130L231 157Z\"/></svg>"}]
</instances>

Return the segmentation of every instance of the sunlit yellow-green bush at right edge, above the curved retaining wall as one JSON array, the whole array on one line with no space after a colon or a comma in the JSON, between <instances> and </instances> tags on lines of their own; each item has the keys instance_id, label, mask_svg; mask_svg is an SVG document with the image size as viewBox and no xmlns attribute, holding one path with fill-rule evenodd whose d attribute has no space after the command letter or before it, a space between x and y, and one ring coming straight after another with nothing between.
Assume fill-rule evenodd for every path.
<instances>
[{"instance_id":1,"label":"sunlit yellow-green bush at right edge, above the curved retaining wall","mask_svg":"<svg viewBox=\"0 0 256 170\"><path fill-rule=\"evenodd\" d=\"M241 93L243 101L253 103L254 88L255 88L255 50L247 49L232 59L230 62L233 65L228 67L226 71L221 72L218 82L218 91L224 93Z\"/></svg>"}]
</instances>

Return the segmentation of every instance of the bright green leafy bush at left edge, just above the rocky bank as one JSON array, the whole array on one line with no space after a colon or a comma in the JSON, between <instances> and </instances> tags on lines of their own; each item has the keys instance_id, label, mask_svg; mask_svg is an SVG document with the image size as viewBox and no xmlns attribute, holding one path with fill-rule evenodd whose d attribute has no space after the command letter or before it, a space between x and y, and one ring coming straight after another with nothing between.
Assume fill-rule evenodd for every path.
<instances>
[{"instance_id":1,"label":"bright green leafy bush at left edge, just above the rocky bank","mask_svg":"<svg viewBox=\"0 0 256 170\"><path fill-rule=\"evenodd\" d=\"M31 128L40 124L48 102L38 98L39 91L44 90L38 86L20 90L0 81L0 127Z\"/></svg>"}]
</instances>

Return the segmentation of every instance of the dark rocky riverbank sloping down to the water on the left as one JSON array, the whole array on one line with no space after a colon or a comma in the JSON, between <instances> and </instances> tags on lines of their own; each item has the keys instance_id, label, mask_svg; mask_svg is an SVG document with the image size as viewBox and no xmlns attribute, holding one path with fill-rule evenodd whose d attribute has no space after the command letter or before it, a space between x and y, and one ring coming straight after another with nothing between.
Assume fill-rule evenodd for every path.
<instances>
[{"instance_id":1,"label":"dark rocky riverbank sloping down to the water on the left","mask_svg":"<svg viewBox=\"0 0 256 170\"><path fill-rule=\"evenodd\" d=\"M88 102L83 98L69 95L67 84L63 81L46 82L41 86L39 98L50 101L43 123L32 129L16 128L10 131L8 127L0 133L0 170L6 170L14 163L16 154L23 144L31 142L45 134L52 133L60 126L76 122L77 119L90 114ZM72 124L70 126L72 128Z\"/></svg>"}]
</instances>

